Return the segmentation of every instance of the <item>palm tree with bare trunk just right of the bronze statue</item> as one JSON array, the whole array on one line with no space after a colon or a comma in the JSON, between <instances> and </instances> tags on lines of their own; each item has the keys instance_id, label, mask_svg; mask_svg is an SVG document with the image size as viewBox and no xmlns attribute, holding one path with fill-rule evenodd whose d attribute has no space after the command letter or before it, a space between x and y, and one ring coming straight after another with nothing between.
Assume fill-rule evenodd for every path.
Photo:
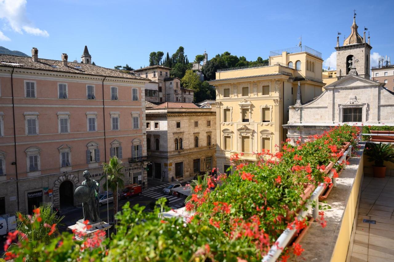
<instances>
[{"instance_id":1,"label":"palm tree with bare trunk just right of the bronze statue","mask_svg":"<svg viewBox=\"0 0 394 262\"><path fill-rule=\"evenodd\" d=\"M123 188L125 186L125 181L123 181L123 177L125 176L122 170L122 161L116 156L113 156L110 159L110 162L102 163L102 170L106 175L108 175L108 180L103 184L104 188L110 188L113 192L113 214L115 215L118 211L118 188ZM100 180L104 179L105 177L102 176Z\"/></svg>"}]
</instances>

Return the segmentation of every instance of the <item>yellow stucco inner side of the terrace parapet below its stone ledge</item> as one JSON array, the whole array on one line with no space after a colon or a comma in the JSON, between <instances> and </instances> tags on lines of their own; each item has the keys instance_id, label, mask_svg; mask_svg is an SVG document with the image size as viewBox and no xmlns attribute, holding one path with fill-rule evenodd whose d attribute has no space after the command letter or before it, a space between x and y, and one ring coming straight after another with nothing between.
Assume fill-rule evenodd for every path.
<instances>
[{"instance_id":1,"label":"yellow stucco inner side of the terrace parapet below its stone ledge","mask_svg":"<svg viewBox=\"0 0 394 262\"><path fill-rule=\"evenodd\" d=\"M342 224L336 240L333 255L331 257L332 262L346 261L348 254L349 242L351 239L351 231L353 229L353 223L356 215L357 201L359 199L359 192L361 188L361 181L363 175L363 165L364 165L364 154L361 156L359 168L357 169L357 174L355 181L353 183L353 188L346 204L346 209L342 217Z\"/></svg>"}]
</instances>

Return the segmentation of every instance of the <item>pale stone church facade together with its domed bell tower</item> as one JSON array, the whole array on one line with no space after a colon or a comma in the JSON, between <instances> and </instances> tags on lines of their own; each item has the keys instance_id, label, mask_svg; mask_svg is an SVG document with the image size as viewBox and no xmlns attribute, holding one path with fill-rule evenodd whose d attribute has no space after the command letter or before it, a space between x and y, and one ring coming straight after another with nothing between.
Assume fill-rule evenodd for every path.
<instances>
[{"instance_id":1,"label":"pale stone church facade together with its domed bell tower","mask_svg":"<svg viewBox=\"0 0 394 262\"><path fill-rule=\"evenodd\" d=\"M384 83L370 80L372 47L357 32L353 17L351 34L339 46L337 38L337 81L326 85L317 98L302 103L297 90L297 103L289 107L288 138L302 140L321 134L330 127L351 125L394 125L394 93Z\"/></svg>"}]
</instances>

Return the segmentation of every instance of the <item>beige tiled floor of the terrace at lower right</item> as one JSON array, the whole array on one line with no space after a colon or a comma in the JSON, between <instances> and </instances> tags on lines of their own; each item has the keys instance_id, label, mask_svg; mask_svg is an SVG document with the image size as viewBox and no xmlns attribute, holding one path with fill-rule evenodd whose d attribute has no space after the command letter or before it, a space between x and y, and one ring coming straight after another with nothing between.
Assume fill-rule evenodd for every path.
<instances>
[{"instance_id":1,"label":"beige tiled floor of the terrace at lower right","mask_svg":"<svg viewBox=\"0 0 394 262\"><path fill-rule=\"evenodd\" d=\"M364 175L351 262L394 262L394 176ZM363 222L375 220L376 224Z\"/></svg>"}]
</instances>

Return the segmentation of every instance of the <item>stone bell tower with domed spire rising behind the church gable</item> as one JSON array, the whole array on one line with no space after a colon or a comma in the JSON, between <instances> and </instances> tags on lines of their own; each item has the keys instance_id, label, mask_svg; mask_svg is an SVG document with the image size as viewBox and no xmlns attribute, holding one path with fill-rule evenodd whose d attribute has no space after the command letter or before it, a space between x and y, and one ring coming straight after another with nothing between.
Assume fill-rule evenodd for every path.
<instances>
[{"instance_id":1,"label":"stone bell tower with domed spire rising behind the church gable","mask_svg":"<svg viewBox=\"0 0 394 262\"><path fill-rule=\"evenodd\" d=\"M366 79L370 79L370 59L371 49L370 40L368 43L364 37L359 35L356 24L356 13L353 16L351 33L344 40L343 46L339 46L339 36L336 39L336 76L339 78L347 76L349 73L356 74ZM366 29L366 28L364 28Z\"/></svg>"}]
</instances>

